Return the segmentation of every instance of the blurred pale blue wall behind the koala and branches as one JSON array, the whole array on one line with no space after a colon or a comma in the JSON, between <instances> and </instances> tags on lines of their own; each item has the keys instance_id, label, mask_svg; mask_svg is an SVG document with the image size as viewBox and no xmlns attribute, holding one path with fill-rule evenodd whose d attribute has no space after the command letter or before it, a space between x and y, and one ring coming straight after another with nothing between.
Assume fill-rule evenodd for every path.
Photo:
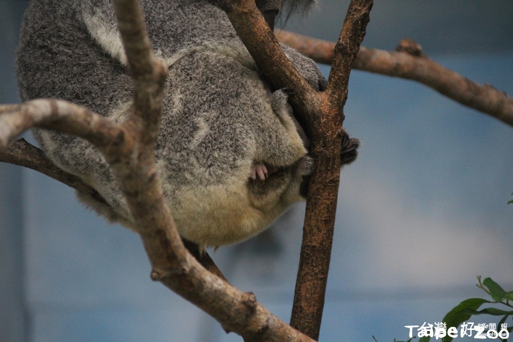
<instances>
[{"instance_id":1,"label":"blurred pale blue wall behind the koala and branches","mask_svg":"<svg viewBox=\"0 0 513 342\"><path fill-rule=\"evenodd\" d=\"M0 1L1 103L19 101L13 55L25 4ZM286 26L335 40L346 8L321 2ZM393 49L409 37L511 94L512 14L510 1L377 1L364 45ZM321 339L405 339L404 326L482 296L477 275L513 288L511 127L410 81L353 71L349 89L344 125L363 146L342 171ZM235 286L286 321L303 212L211 252ZM0 340L241 340L149 271L135 234L85 210L67 186L0 164Z\"/></svg>"}]
</instances>

